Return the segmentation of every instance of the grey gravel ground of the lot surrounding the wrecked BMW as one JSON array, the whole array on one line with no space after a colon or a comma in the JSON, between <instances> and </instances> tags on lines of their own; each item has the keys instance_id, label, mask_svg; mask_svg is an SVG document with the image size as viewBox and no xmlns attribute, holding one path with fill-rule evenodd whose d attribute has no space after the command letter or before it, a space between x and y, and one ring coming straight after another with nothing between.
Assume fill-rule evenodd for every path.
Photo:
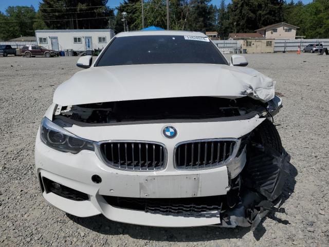
<instances>
[{"instance_id":1,"label":"grey gravel ground of the lot surrounding the wrecked BMW","mask_svg":"<svg viewBox=\"0 0 329 247\"><path fill-rule=\"evenodd\" d=\"M77 58L0 58L0 246L329 246L329 56L250 54L277 80L275 123L291 155L286 214L249 228L156 228L76 218L48 206L34 174L36 130Z\"/></svg>"}]
</instances>

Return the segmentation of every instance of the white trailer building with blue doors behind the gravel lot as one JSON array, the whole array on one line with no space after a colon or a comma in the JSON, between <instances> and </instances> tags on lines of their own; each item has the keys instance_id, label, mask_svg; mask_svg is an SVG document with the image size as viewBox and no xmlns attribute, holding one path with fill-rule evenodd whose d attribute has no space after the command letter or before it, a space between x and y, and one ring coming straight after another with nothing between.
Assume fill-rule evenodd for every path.
<instances>
[{"instance_id":1,"label":"white trailer building with blue doors behind the gravel lot","mask_svg":"<svg viewBox=\"0 0 329 247\"><path fill-rule=\"evenodd\" d=\"M112 29L35 30L36 42L47 49L102 49L115 36Z\"/></svg>"}]
</instances>

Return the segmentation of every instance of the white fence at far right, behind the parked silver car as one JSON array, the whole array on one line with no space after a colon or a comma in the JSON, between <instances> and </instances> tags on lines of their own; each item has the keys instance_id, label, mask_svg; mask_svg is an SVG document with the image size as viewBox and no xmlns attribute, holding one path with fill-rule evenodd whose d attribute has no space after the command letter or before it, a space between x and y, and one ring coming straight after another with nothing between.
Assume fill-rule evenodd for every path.
<instances>
[{"instance_id":1,"label":"white fence at far right, behind the parked silver car","mask_svg":"<svg viewBox=\"0 0 329 247\"><path fill-rule=\"evenodd\" d=\"M283 51L297 51L298 46L301 47L301 51L308 44L320 43L323 47L329 47L329 39L306 39L306 40L275 40L274 52Z\"/></svg>"}]
</instances>

